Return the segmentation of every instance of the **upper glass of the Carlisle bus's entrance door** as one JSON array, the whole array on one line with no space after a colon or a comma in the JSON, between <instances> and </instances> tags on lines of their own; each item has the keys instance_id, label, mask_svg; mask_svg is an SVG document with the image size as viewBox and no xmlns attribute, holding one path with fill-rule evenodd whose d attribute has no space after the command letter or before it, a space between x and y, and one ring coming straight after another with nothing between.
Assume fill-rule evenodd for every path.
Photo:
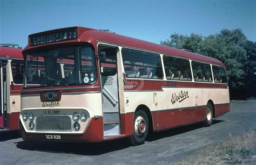
<instances>
[{"instance_id":1,"label":"upper glass of the Carlisle bus's entrance door","mask_svg":"<svg viewBox=\"0 0 256 165\"><path fill-rule=\"evenodd\" d=\"M104 48L100 52L105 52L105 59L100 60L100 74L103 76L113 76L117 74L117 50L116 48Z\"/></svg>"}]
</instances>

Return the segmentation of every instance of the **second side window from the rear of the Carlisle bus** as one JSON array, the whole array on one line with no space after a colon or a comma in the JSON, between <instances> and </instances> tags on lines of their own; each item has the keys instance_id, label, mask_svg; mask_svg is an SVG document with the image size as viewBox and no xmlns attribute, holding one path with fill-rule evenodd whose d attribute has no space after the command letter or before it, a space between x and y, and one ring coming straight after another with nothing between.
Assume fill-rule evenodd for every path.
<instances>
[{"instance_id":1,"label":"second side window from the rear of the Carlisle bus","mask_svg":"<svg viewBox=\"0 0 256 165\"><path fill-rule=\"evenodd\" d=\"M192 70L194 81L213 82L210 64L192 61Z\"/></svg>"}]
</instances>

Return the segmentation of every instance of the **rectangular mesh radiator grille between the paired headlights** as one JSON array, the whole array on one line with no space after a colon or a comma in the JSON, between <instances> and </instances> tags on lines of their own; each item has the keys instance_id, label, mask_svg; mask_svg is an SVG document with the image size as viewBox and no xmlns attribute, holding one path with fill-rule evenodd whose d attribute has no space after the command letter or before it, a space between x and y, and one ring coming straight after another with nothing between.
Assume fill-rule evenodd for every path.
<instances>
[{"instance_id":1,"label":"rectangular mesh radiator grille between the paired headlights","mask_svg":"<svg viewBox=\"0 0 256 165\"><path fill-rule=\"evenodd\" d=\"M69 116L38 116L36 131L71 131Z\"/></svg>"}]
</instances>

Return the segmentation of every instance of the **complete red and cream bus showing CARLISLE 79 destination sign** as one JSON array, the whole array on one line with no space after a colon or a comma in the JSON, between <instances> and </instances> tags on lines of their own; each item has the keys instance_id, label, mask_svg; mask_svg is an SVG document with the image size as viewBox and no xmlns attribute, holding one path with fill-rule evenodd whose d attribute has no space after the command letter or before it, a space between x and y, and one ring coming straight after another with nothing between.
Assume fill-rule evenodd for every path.
<instances>
[{"instance_id":1,"label":"complete red and cream bus showing CARLISLE 79 destination sign","mask_svg":"<svg viewBox=\"0 0 256 165\"><path fill-rule=\"evenodd\" d=\"M224 64L204 55L85 27L31 34L23 55L24 140L140 145L230 111Z\"/></svg>"}]
</instances>

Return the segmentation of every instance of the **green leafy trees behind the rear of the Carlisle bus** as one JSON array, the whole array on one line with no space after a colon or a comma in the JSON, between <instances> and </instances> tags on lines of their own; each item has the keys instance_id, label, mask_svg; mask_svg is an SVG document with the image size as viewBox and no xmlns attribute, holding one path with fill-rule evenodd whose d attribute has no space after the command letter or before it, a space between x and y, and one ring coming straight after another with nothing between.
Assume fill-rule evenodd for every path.
<instances>
[{"instance_id":1,"label":"green leafy trees behind the rear of the Carlisle bus","mask_svg":"<svg viewBox=\"0 0 256 165\"><path fill-rule=\"evenodd\" d=\"M170 35L170 39L160 41L160 44L188 49L220 60L226 66L228 84L233 93L246 90L251 92L251 96L255 95L252 91L255 91L253 86L256 83L256 43L247 40L240 28L223 29L208 37L193 33L190 36L174 33Z\"/></svg>"}]
</instances>

